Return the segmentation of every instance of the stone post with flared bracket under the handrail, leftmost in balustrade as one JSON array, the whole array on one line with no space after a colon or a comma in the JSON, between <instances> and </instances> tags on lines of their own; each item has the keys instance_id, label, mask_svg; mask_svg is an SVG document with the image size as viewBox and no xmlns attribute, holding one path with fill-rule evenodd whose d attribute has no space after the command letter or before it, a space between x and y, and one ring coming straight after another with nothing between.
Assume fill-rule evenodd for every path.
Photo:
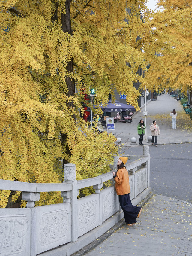
<instances>
[{"instance_id":1,"label":"stone post with flared bracket under the handrail, leftmost in balustrade","mask_svg":"<svg viewBox=\"0 0 192 256\"><path fill-rule=\"evenodd\" d=\"M27 201L27 208L31 208L31 256L36 256L36 220L35 220L35 201L39 201L40 192L22 192L22 200Z\"/></svg>"}]
</instances>

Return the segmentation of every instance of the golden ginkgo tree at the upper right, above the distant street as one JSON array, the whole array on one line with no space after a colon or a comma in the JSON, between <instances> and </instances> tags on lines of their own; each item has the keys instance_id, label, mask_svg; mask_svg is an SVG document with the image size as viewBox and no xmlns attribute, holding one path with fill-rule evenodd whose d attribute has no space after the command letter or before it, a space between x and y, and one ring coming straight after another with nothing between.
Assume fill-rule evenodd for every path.
<instances>
[{"instance_id":1,"label":"golden ginkgo tree at the upper right, above the distant street","mask_svg":"<svg viewBox=\"0 0 192 256\"><path fill-rule=\"evenodd\" d=\"M146 50L150 68L146 72L149 89L192 91L192 1L157 1L149 25L151 40ZM147 37L147 40L149 37ZM149 49L150 47L150 49ZM153 52L159 53L151 55Z\"/></svg>"}]
</instances>

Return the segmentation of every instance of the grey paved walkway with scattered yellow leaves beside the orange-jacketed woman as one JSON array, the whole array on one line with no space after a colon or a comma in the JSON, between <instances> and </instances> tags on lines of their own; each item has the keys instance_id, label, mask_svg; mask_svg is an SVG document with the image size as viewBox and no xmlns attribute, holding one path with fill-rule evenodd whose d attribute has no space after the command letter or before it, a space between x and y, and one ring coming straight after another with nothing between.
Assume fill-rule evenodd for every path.
<instances>
[{"instance_id":1,"label":"grey paved walkway with scattered yellow leaves beside the orange-jacketed woman","mask_svg":"<svg viewBox=\"0 0 192 256\"><path fill-rule=\"evenodd\" d=\"M132 227L123 225L87 256L190 256L192 204L154 195Z\"/></svg>"}]
</instances>

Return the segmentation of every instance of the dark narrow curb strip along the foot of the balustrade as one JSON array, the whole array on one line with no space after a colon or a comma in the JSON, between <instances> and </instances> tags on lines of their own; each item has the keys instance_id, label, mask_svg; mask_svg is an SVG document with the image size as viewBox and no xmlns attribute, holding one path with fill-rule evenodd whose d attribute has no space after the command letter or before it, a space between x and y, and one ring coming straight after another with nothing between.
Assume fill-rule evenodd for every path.
<instances>
[{"instance_id":1,"label":"dark narrow curb strip along the foot of the balustrade","mask_svg":"<svg viewBox=\"0 0 192 256\"><path fill-rule=\"evenodd\" d=\"M146 204L149 199L151 199L154 196L154 192L150 192L139 204L138 206L143 207L144 204ZM114 231L118 230L120 227L122 227L125 224L124 218L119 221L116 225L114 225L110 230L108 230L106 233L104 233L102 236L100 236L97 240L90 243L89 245L82 248L80 251L77 251L76 253L72 254L71 256L83 256L84 254L88 253L92 249L94 249L96 246L98 246L100 243L102 243L104 240L106 240L111 234L114 233Z\"/></svg>"}]
</instances>

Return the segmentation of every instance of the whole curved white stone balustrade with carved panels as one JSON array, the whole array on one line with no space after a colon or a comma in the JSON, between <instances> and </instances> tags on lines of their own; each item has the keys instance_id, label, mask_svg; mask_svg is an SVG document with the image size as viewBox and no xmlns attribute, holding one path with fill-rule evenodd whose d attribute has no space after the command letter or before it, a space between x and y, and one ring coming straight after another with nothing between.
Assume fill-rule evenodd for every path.
<instances>
[{"instance_id":1,"label":"whole curved white stone balustrade with carved panels","mask_svg":"<svg viewBox=\"0 0 192 256\"><path fill-rule=\"evenodd\" d=\"M112 170L118 159L114 158ZM143 146L143 156L128 159L134 160L126 168L130 197L137 205L151 191L149 146ZM71 255L123 218L115 186L102 189L105 181L113 179L112 172L79 181L75 173L75 164L65 164L62 184L0 180L1 190L22 191L27 201L26 208L0 208L0 255ZM90 186L95 194L77 199L79 189ZM61 191L63 203L35 207L41 192L51 191Z\"/></svg>"}]
</instances>

